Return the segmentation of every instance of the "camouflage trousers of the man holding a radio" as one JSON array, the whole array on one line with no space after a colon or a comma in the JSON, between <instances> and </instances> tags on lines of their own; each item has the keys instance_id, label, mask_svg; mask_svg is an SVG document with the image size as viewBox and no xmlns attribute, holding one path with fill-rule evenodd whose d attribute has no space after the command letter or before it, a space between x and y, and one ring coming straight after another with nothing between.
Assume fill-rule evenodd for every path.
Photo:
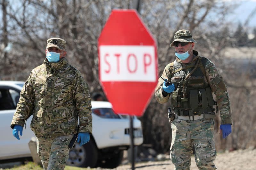
<instances>
[{"instance_id":1,"label":"camouflage trousers of the man holding a radio","mask_svg":"<svg viewBox=\"0 0 256 170\"><path fill-rule=\"evenodd\" d=\"M172 143L170 158L175 170L189 170L193 145L195 161L200 170L215 170L216 158L213 140L214 119L186 121L175 118L171 123Z\"/></svg>"}]
</instances>

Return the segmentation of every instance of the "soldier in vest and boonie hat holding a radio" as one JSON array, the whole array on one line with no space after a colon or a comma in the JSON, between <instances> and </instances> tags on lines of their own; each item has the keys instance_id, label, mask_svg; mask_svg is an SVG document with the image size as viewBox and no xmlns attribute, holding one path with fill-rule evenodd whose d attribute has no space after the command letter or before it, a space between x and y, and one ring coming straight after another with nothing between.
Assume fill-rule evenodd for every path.
<instances>
[{"instance_id":1,"label":"soldier in vest and boonie hat holding a radio","mask_svg":"<svg viewBox=\"0 0 256 170\"><path fill-rule=\"evenodd\" d=\"M164 68L155 90L158 103L171 102L169 119L172 121L171 161L175 170L189 169L195 146L195 161L200 170L216 169L213 141L213 105L220 110L223 138L231 133L231 110L227 87L216 66L193 50L196 41L189 30L175 33L171 47L176 60ZM216 96L213 101L212 92Z\"/></svg>"}]
</instances>

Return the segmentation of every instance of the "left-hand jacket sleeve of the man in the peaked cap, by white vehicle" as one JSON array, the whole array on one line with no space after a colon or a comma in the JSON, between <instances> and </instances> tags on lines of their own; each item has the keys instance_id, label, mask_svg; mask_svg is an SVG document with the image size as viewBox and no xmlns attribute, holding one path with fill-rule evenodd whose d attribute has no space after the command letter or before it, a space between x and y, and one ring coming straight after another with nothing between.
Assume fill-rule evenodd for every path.
<instances>
[{"instance_id":1,"label":"left-hand jacket sleeve of the man in the peaked cap, by white vehicle","mask_svg":"<svg viewBox=\"0 0 256 170\"><path fill-rule=\"evenodd\" d=\"M25 120L32 115L34 110L34 101L35 93L32 84L32 72L30 73L28 80L22 87L20 92L20 100L17 104L16 112L12 118L11 128L13 129L14 125L24 126Z\"/></svg>"}]
</instances>

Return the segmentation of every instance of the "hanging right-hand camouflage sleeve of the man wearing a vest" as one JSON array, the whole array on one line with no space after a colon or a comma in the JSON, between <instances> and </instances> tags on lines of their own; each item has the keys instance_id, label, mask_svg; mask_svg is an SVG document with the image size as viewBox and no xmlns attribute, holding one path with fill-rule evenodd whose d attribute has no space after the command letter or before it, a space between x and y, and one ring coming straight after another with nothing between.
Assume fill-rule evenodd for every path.
<instances>
[{"instance_id":1,"label":"hanging right-hand camouflage sleeve of the man wearing a vest","mask_svg":"<svg viewBox=\"0 0 256 170\"><path fill-rule=\"evenodd\" d=\"M218 109L220 110L220 123L232 124L230 99L227 86L216 66L210 60L206 62L205 73L212 91L215 94Z\"/></svg>"}]
</instances>

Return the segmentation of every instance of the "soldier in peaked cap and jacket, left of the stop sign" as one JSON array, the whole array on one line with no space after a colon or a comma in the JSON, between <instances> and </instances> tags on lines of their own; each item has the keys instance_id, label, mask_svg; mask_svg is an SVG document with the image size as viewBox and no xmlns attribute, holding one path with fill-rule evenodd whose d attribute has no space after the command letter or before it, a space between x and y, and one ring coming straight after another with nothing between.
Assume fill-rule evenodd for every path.
<instances>
[{"instance_id":1,"label":"soldier in peaked cap and jacket, left of the stop sign","mask_svg":"<svg viewBox=\"0 0 256 170\"><path fill-rule=\"evenodd\" d=\"M47 40L44 64L34 68L25 82L11 123L13 135L20 139L18 132L22 135L25 121L33 115L30 127L44 170L65 168L78 118L77 142L85 144L92 134L88 84L65 59L65 47L64 39Z\"/></svg>"}]
</instances>

